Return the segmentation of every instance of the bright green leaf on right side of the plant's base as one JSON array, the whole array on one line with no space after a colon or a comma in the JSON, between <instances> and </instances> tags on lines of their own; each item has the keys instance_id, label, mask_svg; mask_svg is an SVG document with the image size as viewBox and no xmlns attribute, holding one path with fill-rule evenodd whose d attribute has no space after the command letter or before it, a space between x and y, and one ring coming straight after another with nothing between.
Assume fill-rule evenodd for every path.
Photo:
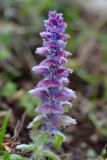
<instances>
[{"instance_id":1,"label":"bright green leaf on right side of the plant's base","mask_svg":"<svg viewBox=\"0 0 107 160\"><path fill-rule=\"evenodd\" d=\"M62 142L64 142L65 136L61 132L56 132L56 139L54 141L55 147L60 147Z\"/></svg>"}]
</instances>

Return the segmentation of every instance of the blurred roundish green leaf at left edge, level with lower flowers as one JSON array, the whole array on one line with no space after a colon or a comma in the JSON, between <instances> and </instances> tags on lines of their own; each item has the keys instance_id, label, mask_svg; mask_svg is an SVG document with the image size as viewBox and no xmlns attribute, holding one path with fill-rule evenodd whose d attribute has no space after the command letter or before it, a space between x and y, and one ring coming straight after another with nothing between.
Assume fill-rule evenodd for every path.
<instances>
[{"instance_id":1,"label":"blurred roundish green leaf at left edge, level with lower flowers","mask_svg":"<svg viewBox=\"0 0 107 160\"><path fill-rule=\"evenodd\" d=\"M6 85L4 86L3 90L1 91L1 96L12 96L15 92L16 92L16 84L13 82L8 82L6 83Z\"/></svg>"}]
</instances>

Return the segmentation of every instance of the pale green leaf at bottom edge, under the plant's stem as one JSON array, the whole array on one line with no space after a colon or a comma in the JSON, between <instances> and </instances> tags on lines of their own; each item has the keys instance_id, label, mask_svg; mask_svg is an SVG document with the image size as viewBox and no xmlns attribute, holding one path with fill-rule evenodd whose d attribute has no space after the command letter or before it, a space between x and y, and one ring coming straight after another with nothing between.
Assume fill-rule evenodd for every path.
<instances>
[{"instance_id":1,"label":"pale green leaf at bottom edge, under the plant's stem","mask_svg":"<svg viewBox=\"0 0 107 160\"><path fill-rule=\"evenodd\" d=\"M44 150L42 151L42 155L44 157L49 157L52 160L60 160L60 158L53 152L49 151L49 150Z\"/></svg>"}]
</instances>

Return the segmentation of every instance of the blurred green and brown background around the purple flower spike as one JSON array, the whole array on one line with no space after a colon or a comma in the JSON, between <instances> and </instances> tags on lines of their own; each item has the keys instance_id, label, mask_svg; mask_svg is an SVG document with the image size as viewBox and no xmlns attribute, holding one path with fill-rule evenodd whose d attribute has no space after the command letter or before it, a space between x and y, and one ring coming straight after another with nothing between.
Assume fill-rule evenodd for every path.
<instances>
[{"instance_id":1,"label":"blurred green and brown background around the purple flower spike","mask_svg":"<svg viewBox=\"0 0 107 160\"><path fill-rule=\"evenodd\" d=\"M71 38L66 50L73 53L67 67L73 68L69 87L77 93L69 114L76 126L64 132L65 159L96 158L107 143L107 2L104 0L0 0L0 125L9 109L12 116L8 132L12 135L18 119L26 110L26 125L41 102L27 91L41 79L31 71L43 57L35 55L42 45L39 32L48 11L64 14L66 33Z\"/></svg>"}]
</instances>

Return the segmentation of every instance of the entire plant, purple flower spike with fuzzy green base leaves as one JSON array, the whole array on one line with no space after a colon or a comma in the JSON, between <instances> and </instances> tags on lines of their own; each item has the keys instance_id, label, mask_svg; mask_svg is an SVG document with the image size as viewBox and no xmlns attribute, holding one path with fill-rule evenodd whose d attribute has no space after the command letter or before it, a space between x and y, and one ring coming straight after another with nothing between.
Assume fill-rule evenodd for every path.
<instances>
[{"instance_id":1,"label":"entire plant, purple flower spike with fuzzy green base leaves","mask_svg":"<svg viewBox=\"0 0 107 160\"><path fill-rule=\"evenodd\" d=\"M36 117L29 124L32 128L30 136L32 144L19 145L17 149L33 151L33 159L42 160L48 157L52 160L59 160L59 157L50 151L52 147L60 147L65 136L60 131L61 127L75 124L75 119L64 115L64 112L71 108L69 100L76 98L75 92L67 88L69 73L71 69L64 67L67 63L67 56L70 52L64 50L70 36L64 31L67 24L63 21L63 14L56 11L49 11L48 20L44 20L45 31L40 33L43 38L43 46L36 49L36 54L45 56L38 66L32 70L43 76L36 88L29 91L33 96L39 97L42 105L35 111Z\"/></svg>"}]
</instances>

